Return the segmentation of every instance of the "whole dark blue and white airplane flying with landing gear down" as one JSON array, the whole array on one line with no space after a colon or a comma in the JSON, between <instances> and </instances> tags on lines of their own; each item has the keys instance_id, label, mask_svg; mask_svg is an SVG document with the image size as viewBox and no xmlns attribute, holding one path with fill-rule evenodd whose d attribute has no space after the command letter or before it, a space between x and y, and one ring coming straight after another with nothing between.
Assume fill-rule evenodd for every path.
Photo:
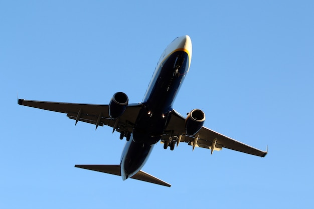
<instances>
[{"instance_id":1,"label":"whole dark blue and white airplane flying with landing gear down","mask_svg":"<svg viewBox=\"0 0 314 209\"><path fill-rule=\"evenodd\" d=\"M141 168L154 145L161 141L164 148L174 150L180 142L195 147L214 150L228 148L247 154L265 157L261 151L242 142L204 127L205 113L193 109L187 117L173 109L174 100L189 72L192 42L189 36L177 37L161 55L142 102L128 104L128 97L117 92L109 105L46 102L18 99L18 104L66 113L67 117L98 126L110 126L126 138L126 144L117 165L75 165L75 167L120 175L150 183L171 186Z\"/></svg>"}]
</instances>

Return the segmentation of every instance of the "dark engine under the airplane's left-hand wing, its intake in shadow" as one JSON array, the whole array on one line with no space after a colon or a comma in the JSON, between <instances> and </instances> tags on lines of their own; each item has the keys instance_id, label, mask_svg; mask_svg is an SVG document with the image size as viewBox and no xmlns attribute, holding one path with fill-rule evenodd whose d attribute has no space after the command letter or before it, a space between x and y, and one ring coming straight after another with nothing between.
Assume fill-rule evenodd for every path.
<instances>
[{"instance_id":1,"label":"dark engine under the airplane's left-hand wing, its intake in shadow","mask_svg":"<svg viewBox=\"0 0 314 209\"><path fill-rule=\"evenodd\" d=\"M109 103L109 116L112 119L117 119L126 110L128 97L123 92L115 93Z\"/></svg>"}]
</instances>

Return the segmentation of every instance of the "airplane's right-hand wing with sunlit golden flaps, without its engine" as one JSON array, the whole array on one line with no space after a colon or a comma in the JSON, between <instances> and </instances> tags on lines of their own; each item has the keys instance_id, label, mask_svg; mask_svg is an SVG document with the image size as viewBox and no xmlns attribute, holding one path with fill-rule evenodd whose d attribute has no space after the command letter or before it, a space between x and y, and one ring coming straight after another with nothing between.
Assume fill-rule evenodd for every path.
<instances>
[{"instance_id":1,"label":"airplane's right-hand wing with sunlit golden flaps, without its engine","mask_svg":"<svg viewBox=\"0 0 314 209\"><path fill-rule=\"evenodd\" d=\"M266 151L246 145L204 126L195 136L188 136L185 134L185 118L175 110L171 112L171 118L166 128L166 135L163 136L164 140L167 140L167 132L178 136L179 141L177 143L187 142L193 146L193 149L196 146L208 148L213 153L213 150L221 150L224 147L260 157L264 157L267 154Z\"/></svg>"}]
</instances>

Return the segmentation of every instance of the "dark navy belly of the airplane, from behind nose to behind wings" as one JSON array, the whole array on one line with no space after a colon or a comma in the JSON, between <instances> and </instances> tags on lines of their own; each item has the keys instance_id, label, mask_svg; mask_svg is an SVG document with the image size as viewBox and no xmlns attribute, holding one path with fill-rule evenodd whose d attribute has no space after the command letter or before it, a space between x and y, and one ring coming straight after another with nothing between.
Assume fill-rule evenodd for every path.
<instances>
[{"instance_id":1,"label":"dark navy belly of the airplane, from behind nose to behind wings","mask_svg":"<svg viewBox=\"0 0 314 209\"><path fill-rule=\"evenodd\" d=\"M186 52L177 51L160 65L135 122L135 142L154 144L163 136L173 101L189 69L188 60Z\"/></svg>"}]
</instances>

